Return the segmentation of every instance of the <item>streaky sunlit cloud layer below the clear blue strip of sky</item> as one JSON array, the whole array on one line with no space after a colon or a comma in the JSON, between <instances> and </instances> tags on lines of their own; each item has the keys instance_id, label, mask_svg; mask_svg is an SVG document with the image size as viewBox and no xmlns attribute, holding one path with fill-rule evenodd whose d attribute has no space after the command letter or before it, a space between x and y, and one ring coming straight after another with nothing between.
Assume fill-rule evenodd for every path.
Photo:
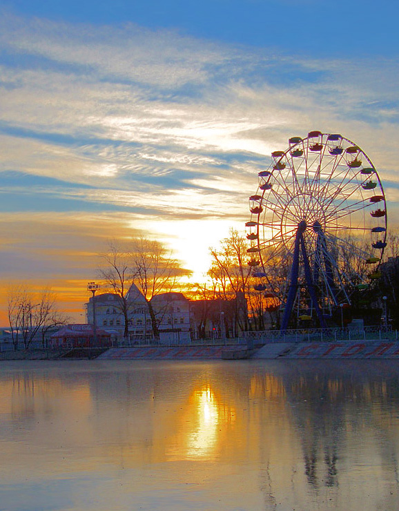
<instances>
[{"instance_id":1,"label":"streaky sunlit cloud layer below the clear blue strip of sky","mask_svg":"<svg viewBox=\"0 0 399 511\"><path fill-rule=\"evenodd\" d=\"M151 224L154 236L175 229L180 247L184 221L209 221L213 229L215 221L244 224L271 151L311 129L359 144L382 180L392 182L395 200L394 59L305 59L133 24L7 12L0 44L0 171L21 176L3 189L3 209L17 215L21 204L30 211L12 215L10 228L1 223L9 240L3 250L29 253L37 275L48 263L55 277L65 271L71 278L87 240L126 235L127 224L135 233L148 233L143 225ZM49 211L48 228L38 219ZM41 251L32 251L26 233L28 240L38 236ZM196 250L192 238L187 243ZM48 262L54 253L58 267ZM14 261L14 271L10 255L4 257L7 271L29 274L26 255Z\"/></svg>"}]
</instances>

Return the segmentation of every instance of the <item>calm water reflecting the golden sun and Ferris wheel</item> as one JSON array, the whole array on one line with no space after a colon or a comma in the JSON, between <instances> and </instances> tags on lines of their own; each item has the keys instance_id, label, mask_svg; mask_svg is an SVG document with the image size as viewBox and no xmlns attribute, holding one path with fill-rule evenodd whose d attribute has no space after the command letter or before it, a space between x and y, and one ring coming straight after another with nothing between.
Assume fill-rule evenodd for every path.
<instances>
[{"instance_id":1,"label":"calm water reflecting the golden sun and Ferris wheel","mask_svg":"<svg viewBox=\"0 0 399 511\"><path fill-rule=\"evenodd\" d=\"M0 364L1 511L397 511L395 361Z\"/></svg>"}]
</instances>

